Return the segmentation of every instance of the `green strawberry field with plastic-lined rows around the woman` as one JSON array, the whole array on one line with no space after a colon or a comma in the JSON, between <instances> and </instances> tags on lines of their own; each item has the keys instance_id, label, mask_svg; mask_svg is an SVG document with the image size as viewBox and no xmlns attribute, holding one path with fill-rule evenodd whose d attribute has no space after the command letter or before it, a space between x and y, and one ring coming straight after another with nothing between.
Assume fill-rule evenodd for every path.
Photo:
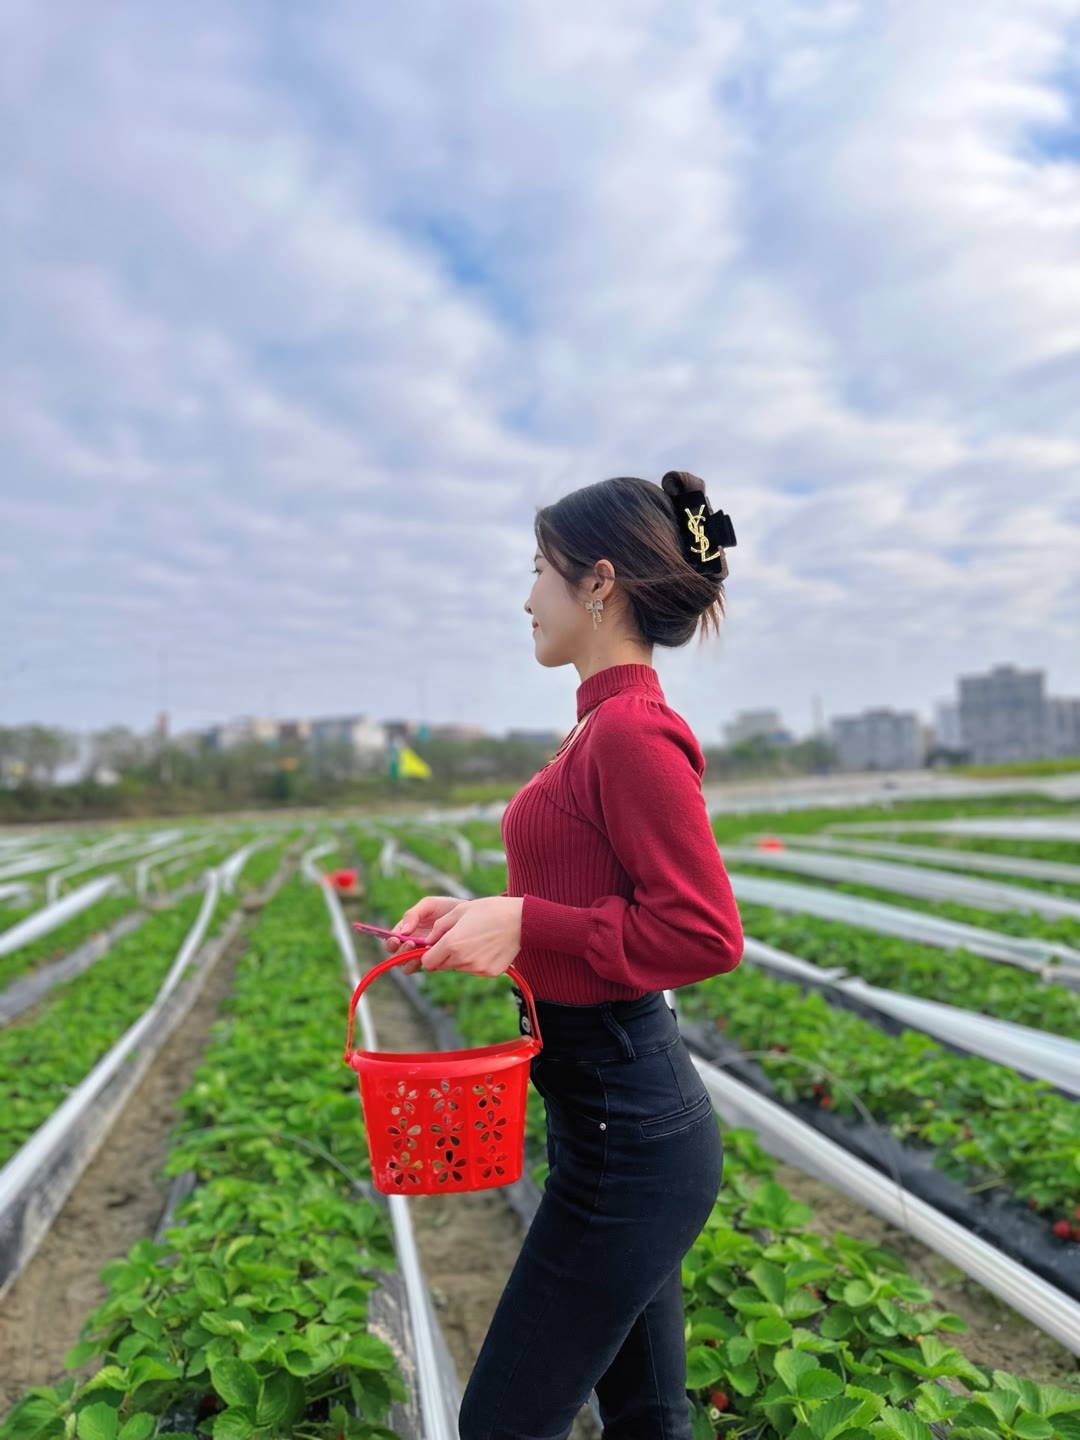
<instances>
[{"instance_id":1,"label":"green strawberry field with plastic-lined rows around the woman","mask_svg":"<svg viewBox=\"0 0 1080 1440\"><path fill-rule=\"evenodd\" d=\"M994 814L1008 816L1025 804L998 801ZM950 811L893 806L896 818L904 814L932 824ZM863 818L792 812L783 832L792 831L795 848L801 834L841 837L827 827ZM746 815L717 819L714 828L723 852L726 840L753 844L770 825L772 818ZM410 1440L429 1433L432 1405L454 1413L452 1384L445 1369L428 1372L418 1362L431 1344L418 1349L408 1322L419 1313L415 1302L412 1310L395 1308L410 1269L403 1257L412 1251L403 1247L413 1240L402 1230L409 1223L370 1184L356 1076L341 1063L348 965L363 971L386 952L357 936L346 956L341 929L346 917L393 924L420 896L448 887L462 899L498 894L507 886L498 821L477 814L438 825L399 824L393 815L207 822L170 827L158 840L130 832L121 842L107 831L27 838L22 863L17 844L3 850L0 870L20 870L27 890L0 910L0 940L27 917L48 926L48 907L88 878L117 880L79 914L0 958L0 1001L27 978L39 986L33 1002L0 1027L7 1267L0 1333L10 1359L10 1378L0 1380L0 1437ZM1066 842L981 842L929 828L903 832L903 841L953 855L1080 864L1080 847ZM932 868L926 858L914 863ZM737 868L769 873L766 865ZM325 877L347 870L360 884L338 886L338 897ZM1064 881L1015 883L1073 894ZM1080 923L1030 910L978 910L840 881L831 888L1008 936L1066 945L1080 937ZM1080 989L1067 978L760 903L740 901L740 914L747 939L822 971L840 968L890 992L943 1001L1061 1043L1080 1038ZM78 973L65 969L72 959L82 966ZM397 976L392 989L415 1002L418 1024L433 1007L444 1043L452 1035L480 1045L516 1034L505 981L420 972ZM210 991L207 1009L203 992ZM379 1030L379 985L370 999ZM865 1225L822 1228L799 1197L798 1165L780 1165L765 1132L719 1113L724 1179L683 1266L696 1440L1080 1440L1076 1096L845 1007L828 988L780 978L750 959L675 992L675 1001L696 1063L778 1106L792 1143L828 1136L860 1164L893 1165L893 1179L913 1197L999 1253L1002 1276L1021 1276L1015 1293L1002 1280L986 1295L963 1280L959 1253L946 1247L940 1272L927 1279L929 1261L916 1264L914 1251L876 1237L870 1211ZM181 1037L179 1051L168 1050L171 1034ZM429 1044L438 1044L433 1032ZM134 1103L111 1092L127 1084L138 1096L151 1083L168 1090L154 1139L160 1223L132 1225L112 1254L81 1257L71 1283L79 1295L88 1283L92 1303L56 1313L55 1286L49 1290L43 1276L55 1263L63 1197L53 1197L55 1215L39 1224L33 1244L27 1217L48 1198L46 1176L53 1191L56 1176L68 1191L92 1188L94 1156L72 1158L79 1132L84 1140L94 1132L84 1148L108 1171L109 1146L130 1115L124 1106ZM876 1145L886 1159L874 1158ZM530 1089L523 1185L531 1202L546 1174L544 1109ZM455 1224L464 1198L432 1197L445 1207L441 1224ZM416 1217L426 1214L418 1200L405 1204ZM420 1248L420 1260L419 1283L438 1292L438 1272L425 1270L436 1266L435 1250ZM504 1282L505 1273L492 1269L492 1306ZM45 1325L46 1310L33 1306L46 1303L35 1296L48 1295ZM52 1349L30 1355L9 1306L12 1316L36 1316L35 1333L55 1331ZM438 1348L438 1316L435 1325ZM446 1394L432 1400L439 1385ZM585 1413L582 1436L596 1433L589 1423Z\"/></svg>"}]
</instances>

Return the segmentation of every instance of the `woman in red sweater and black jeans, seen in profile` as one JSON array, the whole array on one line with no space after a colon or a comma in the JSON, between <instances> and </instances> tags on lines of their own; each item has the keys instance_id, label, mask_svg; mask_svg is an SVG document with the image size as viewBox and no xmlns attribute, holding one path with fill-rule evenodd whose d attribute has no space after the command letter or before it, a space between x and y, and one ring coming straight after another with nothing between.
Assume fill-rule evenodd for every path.
<instances>
[{"instance_id":1,"label":"woman in red sweater and black jeans, seen in profile","mask_svg":"<svg viewBox=\"0 0 1080 1440\"><path fill-rule=\"evenodd\" d=\"M719 629L732 523L704 484L616 478L537 511L526 603L577 724L503 816L510 886L428 896L403 969L497 976L537 1002L550 1172L462 1397L461 1440L564 1437L595 1388L605 1440L690 1440L681 1261L721 1175L706 1087L664 989L734 969L743 930L704 757L652 647ZM400 942L387 939L389 949ZM521 1028L528 1030L514 986Z\"/></svg>"}]
</instances>

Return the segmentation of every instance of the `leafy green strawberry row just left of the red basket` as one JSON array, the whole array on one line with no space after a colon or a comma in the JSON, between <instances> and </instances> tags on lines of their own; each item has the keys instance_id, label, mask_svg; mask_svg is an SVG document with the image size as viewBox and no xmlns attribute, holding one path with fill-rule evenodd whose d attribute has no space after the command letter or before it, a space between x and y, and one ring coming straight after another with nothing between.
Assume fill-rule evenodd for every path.
<instances>
[{"instance_id":1,"label":"leafy green strawberry row just left of the red basket","mask_svg":"<svg viewBox=\"0 0 1080 1440\"><path fill-rule=\"evenodd\" d=\"M102 1277L108 1296L68 1355L89 1380L32 1390L3 1440L396 1440L406 1388L366 1329L393 1264L363 1192L367 1149L341 1066L347 986L315 887L269 903L183 1100L168 1174L199 1184L163 1241Z\"/></svg>"}]
</instances>

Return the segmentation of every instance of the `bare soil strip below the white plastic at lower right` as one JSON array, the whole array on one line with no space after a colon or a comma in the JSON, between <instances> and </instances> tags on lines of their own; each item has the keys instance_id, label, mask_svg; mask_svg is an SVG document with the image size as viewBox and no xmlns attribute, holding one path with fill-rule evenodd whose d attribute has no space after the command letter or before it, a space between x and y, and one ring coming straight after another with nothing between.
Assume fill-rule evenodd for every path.
<instances>
[{"instance_id":1,"label":"bare soil strip below the white plastic at lower right","mask_svg":"<svg viewBox=\"0 0 1080 1440\"><path fill-rule=\"evenodd\" d=\"M1076 1355L1035 1329L1022 1315L1017 1315L936 1251L927 1250L887 1220L791 1165L780 1165L776 1179L792 1197L814 1208L814 1220L808 1228L819 1236L828 1238L841 1231L899 1254L912 1277L933 1292L933 1302L939 1309L950 1310L968 1322L968 1333L942 1333L940 1339L956 1345L976 1365L1007 1369L1038 1384L1053 1381L1074 1385L1080 1381L1080 1359Z\"/></svg>"}]
</instances>

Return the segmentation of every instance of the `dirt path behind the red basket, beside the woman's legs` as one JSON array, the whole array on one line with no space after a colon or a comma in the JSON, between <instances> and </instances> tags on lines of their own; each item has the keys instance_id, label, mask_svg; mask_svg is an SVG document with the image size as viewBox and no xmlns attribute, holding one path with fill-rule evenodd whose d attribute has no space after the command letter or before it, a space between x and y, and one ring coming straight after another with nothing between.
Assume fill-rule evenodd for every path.
<instances>
[{"instance_id":1,"label":"dirt path behind the red basket, beside the woman's legs","mask_svg":"<svg viewBox=\"0 0 1080 1440\"><path fill-rule=\"evenodd\" d=\"M361 969L383 950L357 946ZM423 1020L386 976L367 992L380 1050L431 1050ZM409 1212L423 1273L462 1390L484 1344L491 1316L521 1250L521 1221L498 1189L461 1195L413 1195ZM582 1410L570 1440L596 1440L599 1428Z\"/></svg>"}]
</instances>

